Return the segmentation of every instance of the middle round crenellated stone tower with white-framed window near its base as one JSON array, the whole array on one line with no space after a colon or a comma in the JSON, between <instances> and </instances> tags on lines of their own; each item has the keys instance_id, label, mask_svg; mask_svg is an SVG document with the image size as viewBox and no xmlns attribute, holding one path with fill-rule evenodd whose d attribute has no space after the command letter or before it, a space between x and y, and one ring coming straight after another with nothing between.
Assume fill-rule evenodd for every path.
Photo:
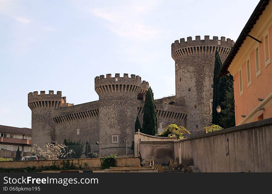
<instances>
[{"instance_id":1,"label":"middle round crenellated stone tower with white-framed window near its base","mask_svg":"<svg viewBox=\"0 0 272 194\"><path fill-rule=\"evenodd\" d=\"M124 77L116 73L115 77L107 74L106 78L104 75L95 78L95 91L99 95L101 144L123 145L126 140L131 145L138 113L137 96L139 93L143 96L147 89L148 82L141 82L141 77L134 74L130 78L126 73Z\"/></svg>"}]
</instances>

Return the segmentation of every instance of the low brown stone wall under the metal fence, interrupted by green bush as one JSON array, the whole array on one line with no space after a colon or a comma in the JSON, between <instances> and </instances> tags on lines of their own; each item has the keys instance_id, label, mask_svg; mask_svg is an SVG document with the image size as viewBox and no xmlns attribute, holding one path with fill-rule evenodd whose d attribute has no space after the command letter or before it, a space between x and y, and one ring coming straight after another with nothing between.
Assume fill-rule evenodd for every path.
<instances>
[{"instance_id":1,"label":"low brown stone wall under the metal fence, interrupted by green bush","mask_svg":"<svg viewBox=\"0 0 272 194\"><path fill-rule=\"evenodd\" d=\"M60 160L38 160L38 161L4 161L0 162L0 167L2 168L25 168L25 167L41 167L41 166L51 166L54 163L62 166L62 163L67 159ZM78 163L88 164L89 168L100 168L100 159L99 158L87 158L87 159L69 159L70 163L73 160L75 166L78 166ZM140 165L139 158L120 158L117 159L117 167L136 167Z\"/></svg>"}]
</instances>

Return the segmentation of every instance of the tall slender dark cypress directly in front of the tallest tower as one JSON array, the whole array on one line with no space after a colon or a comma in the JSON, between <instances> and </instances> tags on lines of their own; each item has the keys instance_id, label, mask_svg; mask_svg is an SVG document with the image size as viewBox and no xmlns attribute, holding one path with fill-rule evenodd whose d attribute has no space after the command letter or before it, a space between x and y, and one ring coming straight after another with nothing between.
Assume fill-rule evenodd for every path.
<instances>
[{"instance_id":1,"label":"tall slender dark cypress directly in front of the tallest tower","mask_svg":"<svg viewBox=\"0 0 272 194\"><path fill-rule=\"evenodd\" d=\"M215 51L215 69L214 69L214 79L213 79L213 84L214 84L214 89L213 89L213 104L212 104L212 123L215 125L219 124L219 114L217 113L216 107L219 105L218 102L218 92L219 92L219 81L220 79L217 77L217 73L220 70L222 63L221 59L219 56L218 51Z\"/></svg>"}]
</instances>

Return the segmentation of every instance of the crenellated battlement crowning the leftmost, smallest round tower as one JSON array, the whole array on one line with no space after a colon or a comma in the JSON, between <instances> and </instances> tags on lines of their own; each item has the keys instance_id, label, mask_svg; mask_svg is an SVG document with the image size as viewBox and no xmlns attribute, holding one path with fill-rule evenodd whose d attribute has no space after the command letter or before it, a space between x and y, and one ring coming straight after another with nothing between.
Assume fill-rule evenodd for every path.
<instances>
[{"instance_id":1,"label":"crenellated battlement crowning the leftmost, smallest round tower","mask_svg":"<svg viewBox=\"0 0 272 194\"><path fill-rule=\"evenodd\" d=\"M66 97L64 97L66 99ZM45 91L38 91L28 93L28 107L31 110L39 108L51 108L57 109L62 104L62 92L57 91L57 94L54 94L53 90L49 90L48 94L45 94Z\"/></svg>"}]
</instances>

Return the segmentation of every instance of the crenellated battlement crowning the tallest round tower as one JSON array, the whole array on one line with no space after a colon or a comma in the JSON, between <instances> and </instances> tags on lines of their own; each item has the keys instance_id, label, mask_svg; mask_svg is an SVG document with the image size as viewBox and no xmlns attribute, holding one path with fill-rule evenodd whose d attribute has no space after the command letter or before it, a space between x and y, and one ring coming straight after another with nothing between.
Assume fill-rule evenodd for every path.
<instances>
[{"instance_id":1,"label":"crenellated battlement crowning the tallest round tower","mask_svg":"<svg viewBox=\"0 0 272 194\"><path fill-rule=\"evenodd\" d=\"M204 36L204 39L201 39L200 36L195 36L195 40L191 36L181 38L180 40L175 40L171 45L172 58L176 60L179 57L196 55L196 54L215 54L215 51L218 50L220 55L228 55L234 41L221 36L220 40L218 36L213 36L213 39L210 39L209 35Z\"/></svg>"}]
</instances>

